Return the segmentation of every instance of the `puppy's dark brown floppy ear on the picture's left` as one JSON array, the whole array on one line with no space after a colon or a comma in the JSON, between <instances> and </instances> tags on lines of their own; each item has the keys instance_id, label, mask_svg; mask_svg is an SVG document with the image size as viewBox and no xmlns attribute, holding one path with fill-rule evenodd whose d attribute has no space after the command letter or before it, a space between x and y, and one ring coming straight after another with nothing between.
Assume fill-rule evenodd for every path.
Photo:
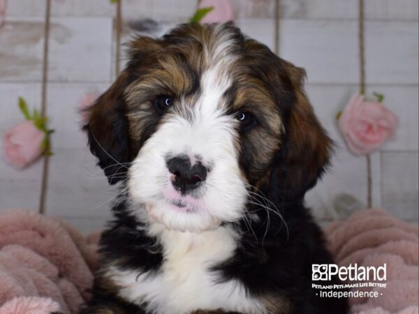
<instances>
[{"instance_id":1,"label":"puppy's dark brown floppy ear on the picture's left","mask_svg":"<svg viewBox=\"0 0 419 314\"><path fill-rule=\"evenodd\" d=\"M110 184L126 177L127 164L131 161L128 137L128 120L124 91L131 79L127 71L119 75L112 86L87 108L87 133L90 151L99 161Z\"/></svg>"}]
</instances>

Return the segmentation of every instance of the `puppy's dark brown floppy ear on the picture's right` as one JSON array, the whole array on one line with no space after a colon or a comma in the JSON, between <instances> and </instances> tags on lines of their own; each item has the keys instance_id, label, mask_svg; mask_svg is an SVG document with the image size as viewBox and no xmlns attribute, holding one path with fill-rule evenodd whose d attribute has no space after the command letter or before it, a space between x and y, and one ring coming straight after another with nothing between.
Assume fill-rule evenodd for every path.
<instances>
[{"instance_id":1,"label":"puppy's dark brown floppy ear on the picture's right","mask_svg":"<svg viewBox=\"0 0 419 314\"><path fill-rule=\"evenodd\" d=\"M279 71L281 82L291 88L293 97L282 117L285 133L272 171L270 195L279 202L294 202L301 200L325 171L332 154L332 141L303 89L304 69L281 60Z\"/></svg>"}]
</instances>

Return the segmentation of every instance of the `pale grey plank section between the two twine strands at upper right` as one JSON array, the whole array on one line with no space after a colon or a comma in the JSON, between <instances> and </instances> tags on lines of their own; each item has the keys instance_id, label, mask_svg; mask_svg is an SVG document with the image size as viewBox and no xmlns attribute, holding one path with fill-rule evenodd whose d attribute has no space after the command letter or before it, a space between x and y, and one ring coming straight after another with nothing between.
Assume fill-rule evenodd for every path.
<instances>
[{"instance_id":1,"label":"pale grey plank section between the two twine strands at upper right","mask_svg":"<svg viewBox=\"0 0 419 314\"><path fill-rule=\"evenodd\" d=\"M356 22L283 20L279 30L279 55L305 68L308 82L358 83Z\"/></svg>"}]
</instances>

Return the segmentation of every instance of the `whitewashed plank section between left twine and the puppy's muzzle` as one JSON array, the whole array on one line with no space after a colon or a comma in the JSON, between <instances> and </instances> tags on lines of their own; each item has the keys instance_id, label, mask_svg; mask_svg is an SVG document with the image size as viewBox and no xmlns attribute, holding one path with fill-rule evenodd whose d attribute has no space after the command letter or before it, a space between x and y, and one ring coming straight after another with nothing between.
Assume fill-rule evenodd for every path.
<instances>
[{"instance_id":1,"label":"whitewashed plank section between left twine and the puppy's muzzle","mask_svg":"<svg viewBox=\"0 0 419 314\"><path fill-rule=\"evenodd\" d=\"M117 188L110 187L89 149L54 148L46 213L49 216L108 217Z\"/></svg>"}]
</instances>

